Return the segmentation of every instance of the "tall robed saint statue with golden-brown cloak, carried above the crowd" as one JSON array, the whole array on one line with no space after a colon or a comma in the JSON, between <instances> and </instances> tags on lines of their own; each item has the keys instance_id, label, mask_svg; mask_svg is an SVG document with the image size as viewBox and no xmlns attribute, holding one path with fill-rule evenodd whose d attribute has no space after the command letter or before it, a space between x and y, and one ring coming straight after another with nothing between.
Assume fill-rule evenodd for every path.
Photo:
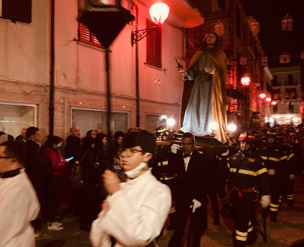
<instances>
[{"instance_id":1,"label":"tall robed saint statue with golden-brown cloak, carried above the crowd","mask_svg":"<svg viewBox=\"0 0 304 247\"><path fill-rule=\"evenodd\" d=\"M226 54L218 46L217 34L210 32L202 47L192 57L188 70L181 73L182 80L194 80L184 116L182 105L182 132L207 136L211 134L209 123L215 121L219 124L215 138L222 144L229 140L226 134L226 111L229 105L225 88L226 74ZM183 98L184 96L183 93Z\"/></svg>"}]
</instances>

